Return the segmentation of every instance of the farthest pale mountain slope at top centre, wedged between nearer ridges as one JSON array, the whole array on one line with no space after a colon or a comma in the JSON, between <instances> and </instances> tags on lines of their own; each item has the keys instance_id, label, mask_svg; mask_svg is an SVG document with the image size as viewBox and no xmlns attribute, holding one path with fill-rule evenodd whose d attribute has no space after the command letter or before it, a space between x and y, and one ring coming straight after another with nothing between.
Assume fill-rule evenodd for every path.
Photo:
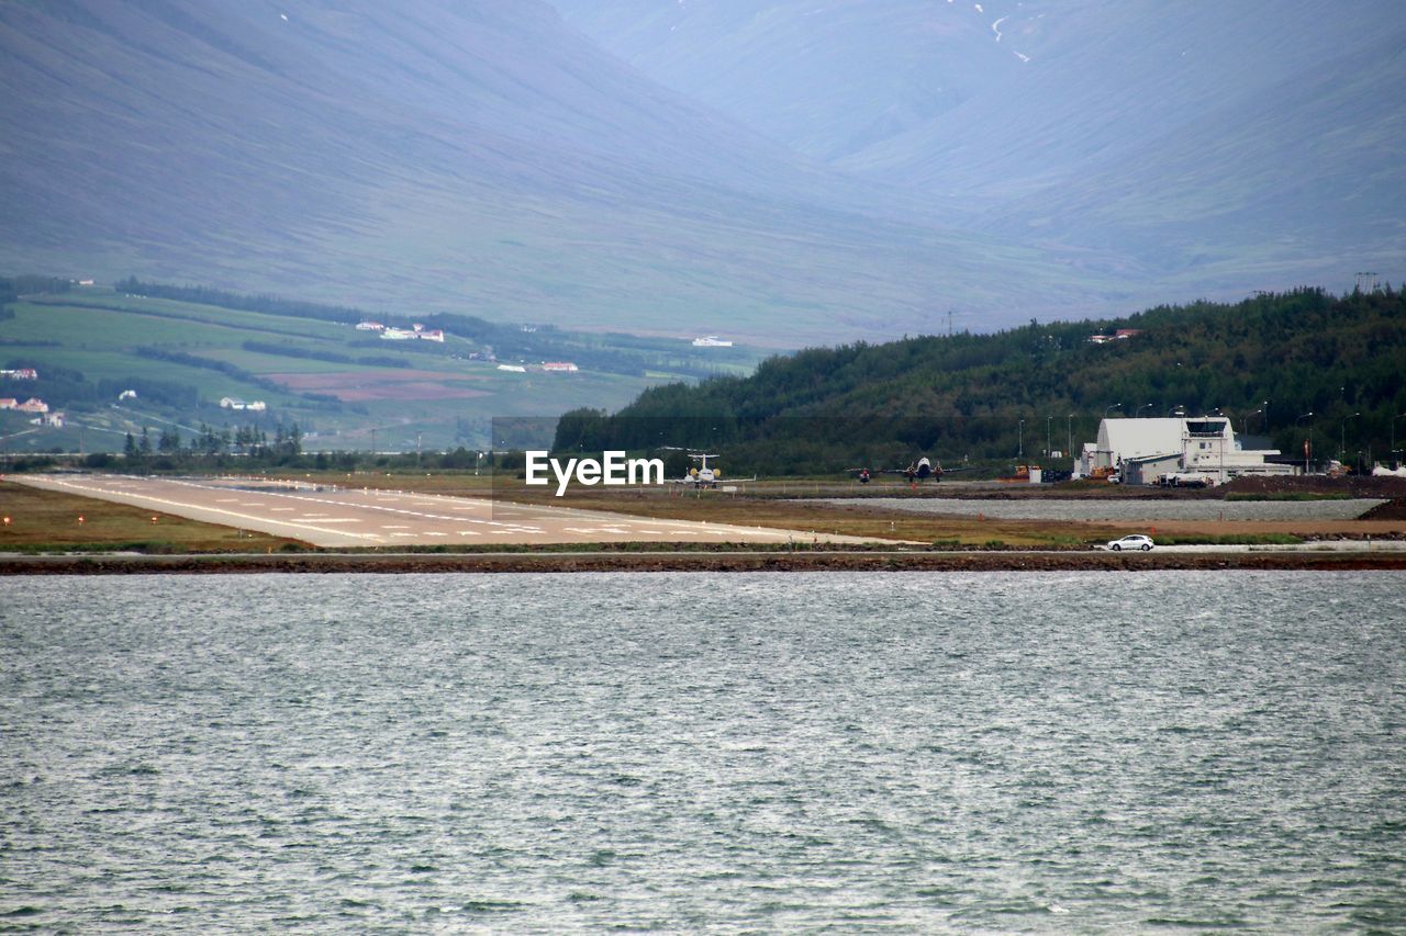
<instances>
[{"instance_id":1,"label":"farthest pale mountain slope at top centre, wedged between nearer ridges","mask_svg":"<svg viewBox=\"0 0 1406 936\"><path fill-rule=\"evenodd\" d=\"M921 126L1019 66L970 4L553 3L647 74L821 159Z\"/></svg>"}]
</instances>

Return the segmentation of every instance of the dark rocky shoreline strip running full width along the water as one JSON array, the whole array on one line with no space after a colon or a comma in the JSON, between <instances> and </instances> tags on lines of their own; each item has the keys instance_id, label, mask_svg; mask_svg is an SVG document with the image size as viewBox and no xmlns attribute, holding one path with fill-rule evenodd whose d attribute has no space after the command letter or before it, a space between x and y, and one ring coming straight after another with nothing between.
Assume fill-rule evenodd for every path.
<instances>
[{"instance_id":1,"label":"dark rocky shoreline strip running full width along the water","mask_svg":"<svg viewBox=\"0 0 1406 936\"><path fill-rule=\"evenodd\" d=\"M65 554L0 557L10 575L249 575L464 572L1161 572L1406 571L1406 551L1114 554L1021 550L935 552L479 552Z\"/></svg>"}]
</instances>

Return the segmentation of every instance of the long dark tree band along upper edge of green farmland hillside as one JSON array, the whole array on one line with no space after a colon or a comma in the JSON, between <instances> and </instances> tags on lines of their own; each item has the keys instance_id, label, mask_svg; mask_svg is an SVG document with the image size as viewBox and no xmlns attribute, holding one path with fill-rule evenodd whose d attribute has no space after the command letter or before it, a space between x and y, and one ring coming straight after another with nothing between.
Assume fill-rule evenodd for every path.
<instances>
[{"instance_id":1,"label":"long dark tree band along upper edge of green farmland hillside","mask_svg":"<svg viewBox=\"0 0 1406 936\"><path fill-rule=\"evenodd\" d=\"M415 316L412 322L411 316L391 312L367 312L350 306L321 305L271 295L245 295L198 285L143 282L136 277L120 280L114 288L134 295L342 325L374 319L396 327L409 327L413 322L419 322L427 329L441 329L447 334L467 339L502 360L572 361L582 368L612 374L643 375L647 370L664 370L685 377L704 378L716 372L717 363L740 363L747 357L744 351L731 349L709 349L706 356L696 354L692 353L690 346L679 340L626 334L595 336L567 332L551 325L523 327L489 322L460 312L430 312ZM363 344L371 340L375 340L374 336L366 336ZM399 342L396 350L430 356L456 353L453 347L433 342Z\"/></svg>"}]
</instances>

